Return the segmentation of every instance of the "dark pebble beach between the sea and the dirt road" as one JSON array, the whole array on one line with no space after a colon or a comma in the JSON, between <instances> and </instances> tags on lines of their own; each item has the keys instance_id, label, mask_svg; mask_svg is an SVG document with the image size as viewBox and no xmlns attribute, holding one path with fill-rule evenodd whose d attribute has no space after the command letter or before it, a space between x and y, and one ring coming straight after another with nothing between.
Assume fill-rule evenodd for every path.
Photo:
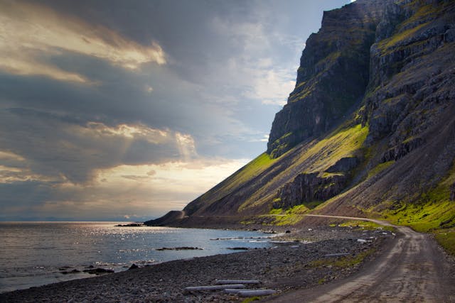
<instances>
[{"instance_id":1,"label":"dark pebble beach between the sea and the dirt road","mask_svg":"<svg viewBox=\"0 0 455 303\"><path fill-rule=\"evenodd\" d=\"M351 275L380 254L393 237L380 228L303 228L277 238L287 242L272 248L174 260L31 287L0 294L0 302L241 302L235 294L185 293L184 288L212 285L216 279L260 280L259 288L277 290L277 294L308 288ZM292 239L314 242L289 242Z\"/></svg>"}]
</instances>

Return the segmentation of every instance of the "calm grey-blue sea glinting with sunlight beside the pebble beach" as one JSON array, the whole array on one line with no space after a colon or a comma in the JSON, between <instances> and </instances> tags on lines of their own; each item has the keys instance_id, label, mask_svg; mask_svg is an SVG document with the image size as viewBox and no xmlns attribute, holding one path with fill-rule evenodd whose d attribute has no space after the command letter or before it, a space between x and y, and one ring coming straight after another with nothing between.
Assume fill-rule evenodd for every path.
<instances>
[{"instance_id":1,"label":"calm grey-blue sea glinting with sunlight beside the pebble beach","mask_svg":"<svg viewBox=\"0 0 455 303\"><path fill-rule=\"evenodd\" d=\"M63 271L232 253L228 248L263 248L264 233L168 227L116 227L115 222L0 222L0 292L91 277ZM213 240L218 238L219 240ZM212 239L212 240L210 240ZM198 247L203 250L156 250Z\"/></svg>"}]
</instances>

